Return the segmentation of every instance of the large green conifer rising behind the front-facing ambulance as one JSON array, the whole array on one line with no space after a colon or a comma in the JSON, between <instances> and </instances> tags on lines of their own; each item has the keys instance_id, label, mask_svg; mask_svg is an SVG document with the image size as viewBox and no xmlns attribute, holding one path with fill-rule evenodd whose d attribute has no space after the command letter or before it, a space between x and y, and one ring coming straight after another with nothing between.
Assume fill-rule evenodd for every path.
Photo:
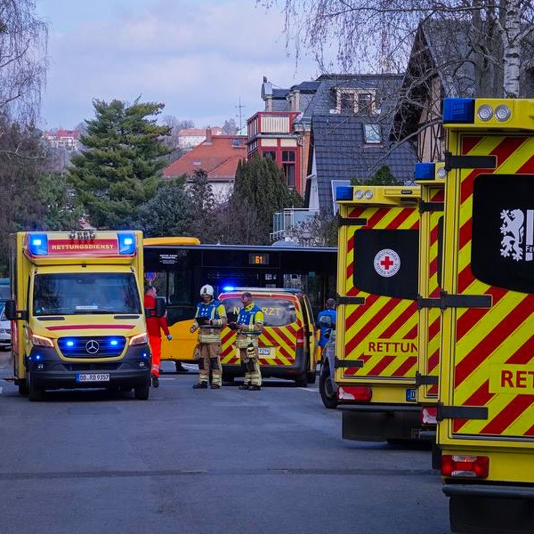
<instances>
[{"instance_id":1,"label":"large green conifer rising behind the front-facing ambulance","mask_svg":"<svg viewBox=\"0 0 534 534\"><path fill-rule=\"evenodd\" d=\"M94 100L95 118L80 137L86 147L73 156L69 180L96 228L130 228L136 209L156 194L168 153L156 124L164 104Z\"/></svg>"}]
</instances>

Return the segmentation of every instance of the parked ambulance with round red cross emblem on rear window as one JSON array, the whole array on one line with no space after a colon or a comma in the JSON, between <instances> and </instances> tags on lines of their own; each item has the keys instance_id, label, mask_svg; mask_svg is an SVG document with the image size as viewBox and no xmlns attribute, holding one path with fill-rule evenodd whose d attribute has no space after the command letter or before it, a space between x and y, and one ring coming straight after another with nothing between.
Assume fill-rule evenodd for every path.
<instances>
[{"instance_id":1,"label":"parked ambulance with round red cross emblem on rear window","mask_svg":"<svg viewBox=\"0 0 534 534\"><path fill-rule=\"evenodd\" d=\"M339 295L328 368L347 440L419 437L419 199L418 186L336 189Z\"/></svg>"}]
</instances>

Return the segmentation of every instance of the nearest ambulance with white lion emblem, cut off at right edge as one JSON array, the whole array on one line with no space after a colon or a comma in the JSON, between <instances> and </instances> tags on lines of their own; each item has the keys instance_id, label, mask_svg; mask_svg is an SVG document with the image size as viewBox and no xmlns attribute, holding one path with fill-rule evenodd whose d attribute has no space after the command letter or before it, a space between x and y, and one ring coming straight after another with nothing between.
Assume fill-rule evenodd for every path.
<instances>
[{"instance_id":1,"label":"nearest ambulance with white lion emblem, cut off at right edge","mask_svg":"<svg viewBox=\"0 0 534 534\"><path fill-rule=\"evenodd\" d=\"M453 532L534 532L534 100L443 101L438 443Z\"/></svg>"}]
</instances>

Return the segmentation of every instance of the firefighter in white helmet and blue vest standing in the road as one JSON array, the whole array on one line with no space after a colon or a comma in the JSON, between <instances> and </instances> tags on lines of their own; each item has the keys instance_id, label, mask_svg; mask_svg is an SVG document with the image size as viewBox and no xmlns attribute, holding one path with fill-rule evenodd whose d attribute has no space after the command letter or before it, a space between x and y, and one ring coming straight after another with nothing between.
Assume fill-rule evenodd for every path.
<instances>
[{"instance_id":1,"label":"firefighter in white helmet and blue vest standing in the road","mask_svg":"<svg viewBox=\"0 0 534 534\"><path fill-rule=\"evenodd\" d=\"M221 301L214 299L214 288L209 284L200 288L200 298L190 332L198 332L198 382L194 389L206 389L209 384L211 369L211 389L220 389L223 385L223 368L221 366L221 330L227 322L226 310Z\"/></svg>"}]
</instances>

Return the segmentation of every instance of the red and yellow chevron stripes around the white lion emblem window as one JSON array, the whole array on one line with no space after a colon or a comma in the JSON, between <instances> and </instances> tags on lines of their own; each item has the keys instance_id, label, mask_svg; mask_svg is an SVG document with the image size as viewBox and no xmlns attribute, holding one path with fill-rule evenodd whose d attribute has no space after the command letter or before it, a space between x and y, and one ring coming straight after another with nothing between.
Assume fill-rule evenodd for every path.
<instances>
[{"instance_id":1,"label":"red and yellow chevron stripes around the white lion emblem window","mask_svg":"<svg viewBox=\"0 0 534 534\"><path fill-rule=\"evenodd\" d=\"M457 293L491 295L489 309L458 309L453 403L485 406L488 420L455 419L456 434L534 436L534 295L492 287L474 279L470 267L473 181L478 174L534 174L534 138L526 135L463 135L461 153L494 155L493 171L462 175L460 186ZM531 364L530 371L524 368ZM522 366L522 367L520 367ZM504 372L506 369L506 372ZM506 374L507 373L507 374ZM503 377L520 388L502 387Z\"/></svg>"}]
</instances>

